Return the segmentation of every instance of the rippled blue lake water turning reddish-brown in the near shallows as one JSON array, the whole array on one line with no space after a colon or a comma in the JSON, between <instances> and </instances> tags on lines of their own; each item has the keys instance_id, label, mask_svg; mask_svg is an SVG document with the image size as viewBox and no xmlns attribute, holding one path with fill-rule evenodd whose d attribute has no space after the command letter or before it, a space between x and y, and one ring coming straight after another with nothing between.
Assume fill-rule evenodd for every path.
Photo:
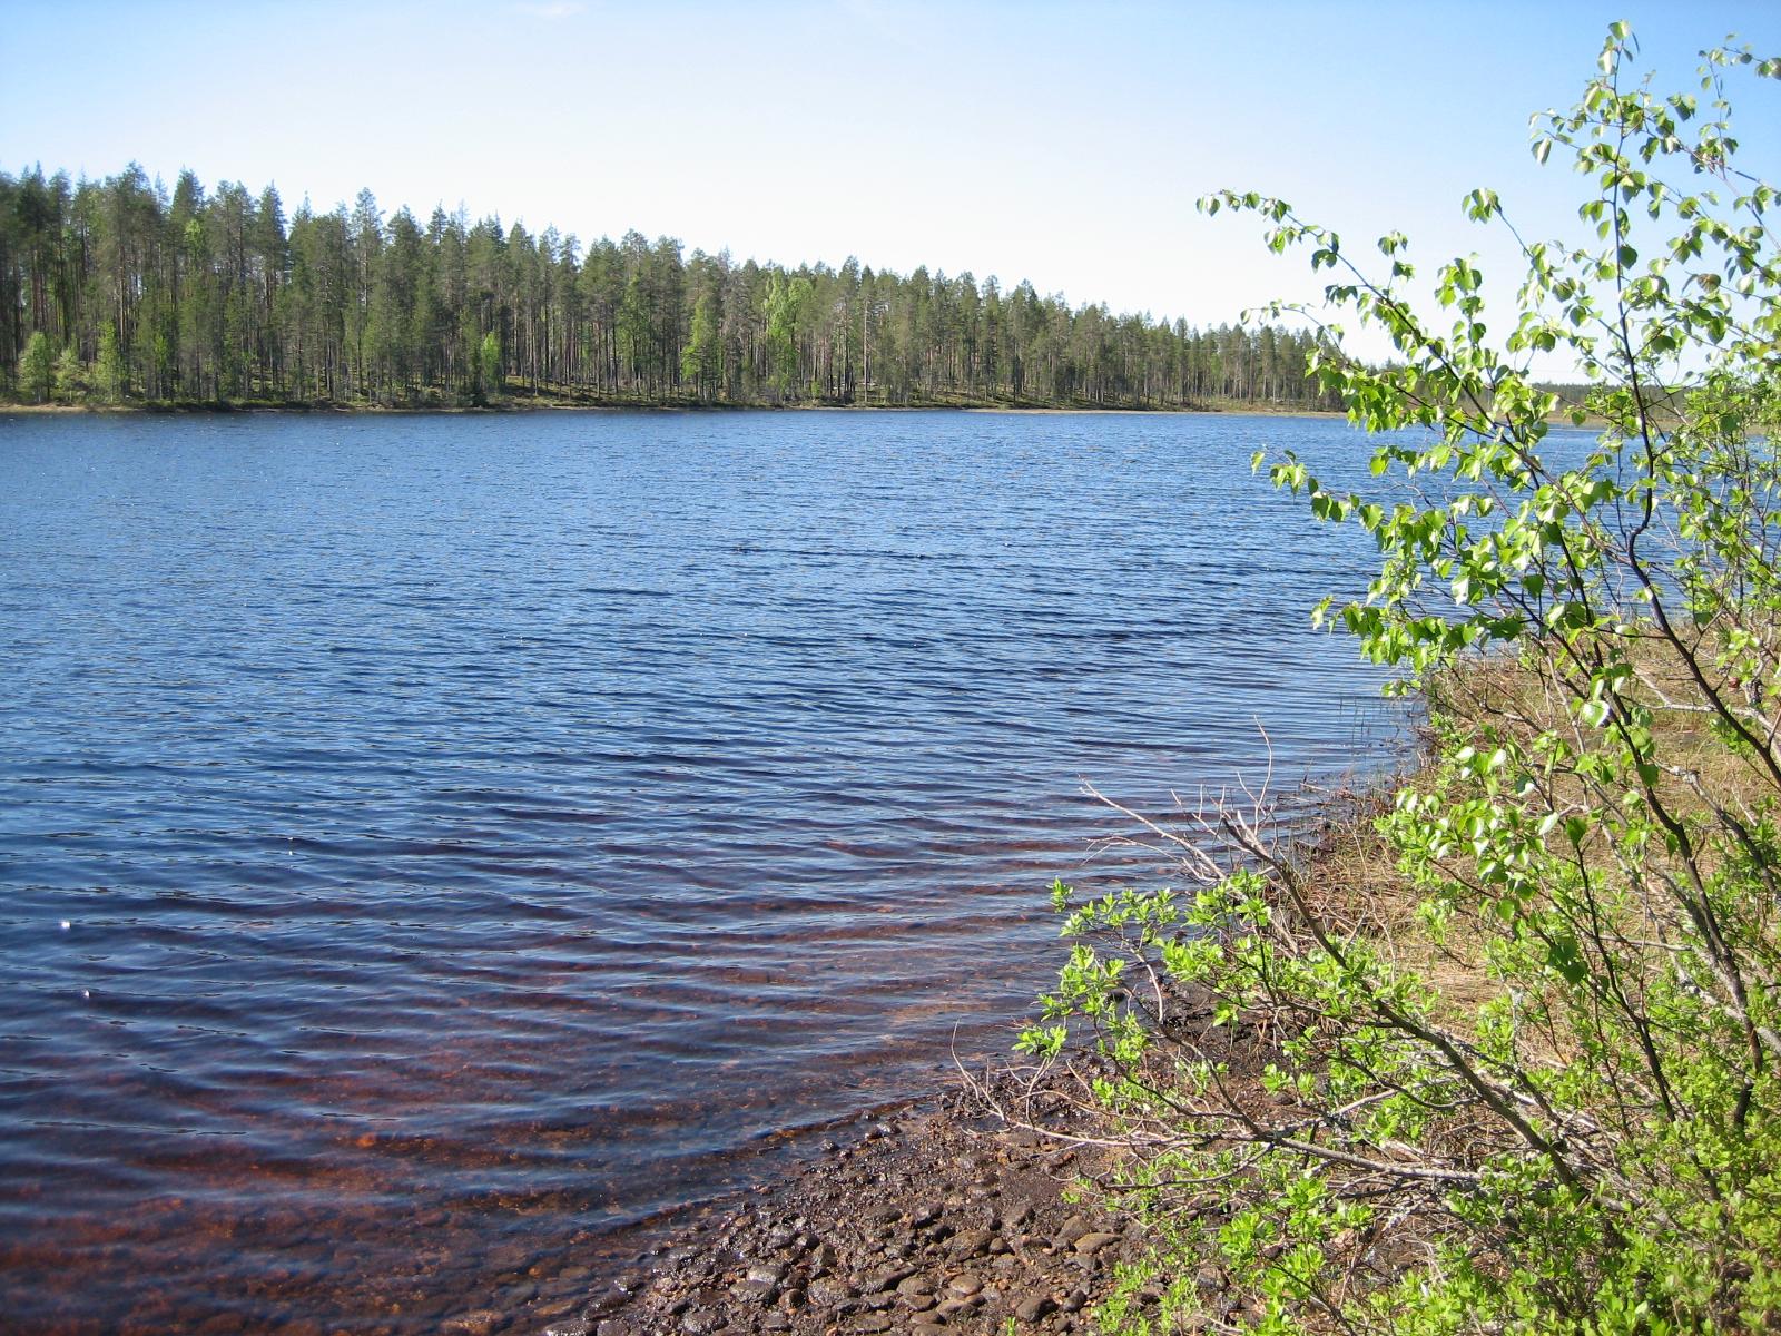
<instances>
[{"instance_id":1,"label":"rippled blue lake water turning reddish-brown in the near shallows","mask_svg":"<svg viewBox=\"0 0 1781 1336\"><path fill-rule=\"evenodd\" d=\"M1263 445L1364 474L1293 419L0 419L4 1322L524 1331L996 1051L1044 885L1156 873L1085 778L1377 759L1307 627L1364 534Z\"/></svg>"}]
</instances>

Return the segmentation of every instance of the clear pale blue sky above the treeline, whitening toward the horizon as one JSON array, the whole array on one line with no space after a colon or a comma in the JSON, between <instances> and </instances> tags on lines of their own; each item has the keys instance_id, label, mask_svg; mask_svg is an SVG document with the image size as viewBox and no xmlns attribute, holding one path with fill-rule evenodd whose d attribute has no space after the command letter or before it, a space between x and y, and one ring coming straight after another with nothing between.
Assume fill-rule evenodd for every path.
<instances>
[{"instance_id":1,"label":"clear pale blue sky above the treeline, whitening toward the horizon","mask_svg":"<svg viewBox=\"0 0 1781 1336\"><path fill-rule=\"evenodd\" d=\"M1405 232L1425 265L1574 228L1580 182L1528 151L1606 27L1667 89L1736 32L1781 53L1781 0L705 4L700 0L0 0L0 171L278 187L499 214L581 239L1031 280L1115 312L1234 321L1316 290L1261 226L1204 217L1234 187L1350 248ZM1781 84L1740 82L1770 180Z\"/></svg>"}]
</instances>

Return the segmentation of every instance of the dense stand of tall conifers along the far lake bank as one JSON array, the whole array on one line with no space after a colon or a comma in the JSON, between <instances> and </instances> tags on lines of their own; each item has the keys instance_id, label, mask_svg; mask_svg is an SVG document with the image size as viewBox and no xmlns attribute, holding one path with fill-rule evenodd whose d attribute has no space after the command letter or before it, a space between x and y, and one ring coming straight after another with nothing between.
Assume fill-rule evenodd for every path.
<instances>
[{"instance_id":1,"label":"dense stand of tall conifers along the far lake bank","mask_svg":"<svg viewBox=\"0 0 1781 1336\"><path fill-rule=\"evenodd\" d=\"M287 217L130 166L0 173L0 397L69 404L1325 404L1313 335L1031 283L581 246L435 208Z\"/></svg>"}]
</instances>

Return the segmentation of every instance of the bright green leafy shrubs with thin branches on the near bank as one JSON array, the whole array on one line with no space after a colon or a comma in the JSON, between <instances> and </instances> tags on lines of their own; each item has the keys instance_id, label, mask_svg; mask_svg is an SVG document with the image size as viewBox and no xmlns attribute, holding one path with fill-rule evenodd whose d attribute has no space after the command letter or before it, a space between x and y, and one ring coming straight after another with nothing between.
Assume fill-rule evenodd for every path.
<instances>
[{"instance_id":1,"label":"bright green leafy shrubs with thin branches on the near bank","mask_svg":"<svg viewBox=\"0 0 1781 1336\"><path fill-rule=\"evenodd\" d=\"M1402 237L1375 280L1284 201L1206 201L1307 246L1329 306L1396 349L1364 367L1329 326L1313 369L1414 499L1330 492L1291 456L1270 476L1378 543L1366 597L1320 616L1423 695L1435 757L1380 821L1416 903L1395 935L1236 814L1232 875L1054 889L1076 946L1021 1044L1086 1042L1152 1272L1216 1258L1240 1327L1630 1336L1781 1311L1781 257L1722 87L1776 62L1712 52L1701 96L1663 96L1631 59L1615 25L1582 102L1537 118L1590 240L1516 233L1501 344L1471 260L1435 269L1427 321ZM1466 208L1509 226L1494 192ZM1580 461L1528 372L1553 353L1596 385ZM1197 1302L1140 1320L1115 1295L1102 1322Z\"/></svg>"}]
</instances>

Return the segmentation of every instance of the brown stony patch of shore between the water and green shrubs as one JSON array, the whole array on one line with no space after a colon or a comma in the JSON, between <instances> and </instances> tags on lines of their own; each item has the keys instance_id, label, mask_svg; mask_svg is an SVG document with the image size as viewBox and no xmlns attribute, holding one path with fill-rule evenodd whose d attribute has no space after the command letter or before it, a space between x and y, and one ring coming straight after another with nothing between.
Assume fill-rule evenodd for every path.
<instances>
[{"instance_id":1,"label":"brown stony patch of shore between the water and green shrubs","mask_svg":"<svg viewBox=\"0 0 1781 1336\"><path fill-rule=\"evenodd\" d=\"M796 1177L702 1210L540 1336L1090 1331L1086 1309L1142 1247L1069 1192L1090 1151L1010 1129L964 1092L855 1124ZM497 1327L499 1324L499 1327ZM470 1313L445 1327L509 1325Z\"/></svg>"}]
</instances>

